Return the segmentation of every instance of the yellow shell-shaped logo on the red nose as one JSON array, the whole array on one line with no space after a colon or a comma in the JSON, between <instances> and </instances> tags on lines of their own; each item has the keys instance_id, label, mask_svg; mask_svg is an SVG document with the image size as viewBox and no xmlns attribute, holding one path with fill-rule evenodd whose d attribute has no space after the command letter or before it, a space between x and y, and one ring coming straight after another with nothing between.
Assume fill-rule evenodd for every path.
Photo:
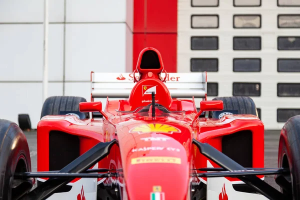
<instances>
[{"instance_id":1,"label":"yellow shell-shaped logo on the red nose","mask_svg":"<svg viewBox=\"0 0 300 200\"><path fill-rule=\"evenodd\" d=\"M130 133L137 132L138 134L150 133L150 132L159 132L159 133L168 133L172 134L173 132L181 132L178 128L163 124L163 123L146 123L140 124L129 130Z\"/></svg>"}]
</instances>

